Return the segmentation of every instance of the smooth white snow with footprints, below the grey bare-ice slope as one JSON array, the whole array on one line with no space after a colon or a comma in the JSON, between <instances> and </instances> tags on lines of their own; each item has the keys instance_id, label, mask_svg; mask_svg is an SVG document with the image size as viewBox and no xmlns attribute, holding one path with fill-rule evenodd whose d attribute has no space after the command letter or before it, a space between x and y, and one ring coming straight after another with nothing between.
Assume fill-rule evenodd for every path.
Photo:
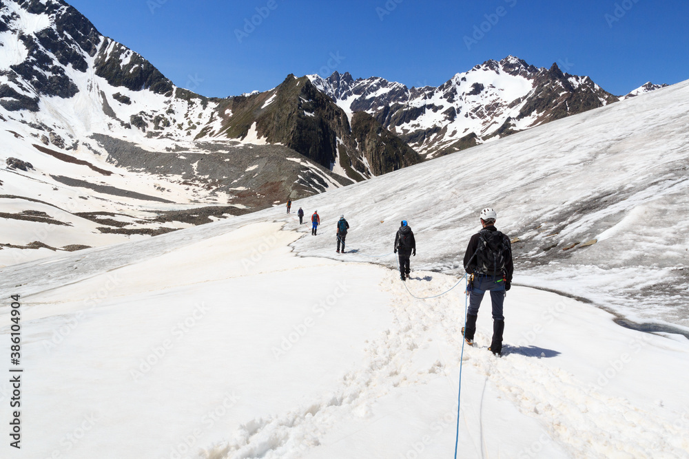
<instances>
[{"instance_id":1,"label":"smooth white snow with footprints, below the grey bare-ice slope","mask_svg":"<svg viewBox=\"0 0 689 459\"><path fill-rule=\"evenodd\" d=\"M462 288L417 300L395 270L292 253L331 229L268 209L3 272L22 294L23 429L41 432L23 452L451 457ZM457 282L413 267L418 297ZM686 339L531 288L506 301L503 358L486 305L464 349L460 457L686 454Z\"/></svg>"}]
</instances>

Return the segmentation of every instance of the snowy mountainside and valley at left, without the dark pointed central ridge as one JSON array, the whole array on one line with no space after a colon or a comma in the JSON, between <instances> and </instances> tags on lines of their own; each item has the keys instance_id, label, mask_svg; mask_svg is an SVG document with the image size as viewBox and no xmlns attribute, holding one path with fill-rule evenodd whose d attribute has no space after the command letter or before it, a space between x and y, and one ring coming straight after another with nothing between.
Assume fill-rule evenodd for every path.
<instances>
[{"instance_id":1,"label":"snowy mountainside and valley at left, without the dark pointed central ridge","mask_svg":"<svg viewBox=\"0 0 689 459\"><path fill-rule=\"evenodd\" d=\"M223 132L242 99L176 87L63 1L3 0L0 163L32 169L0 168L0 195L70 229L38 235L45 219L3 213L20 230L0 239L11 245L0 265L150 237L351 183L329 163L266 145L256 129ZM30 250L34 242L50 249Z\"/></svg>"}]
</instances>

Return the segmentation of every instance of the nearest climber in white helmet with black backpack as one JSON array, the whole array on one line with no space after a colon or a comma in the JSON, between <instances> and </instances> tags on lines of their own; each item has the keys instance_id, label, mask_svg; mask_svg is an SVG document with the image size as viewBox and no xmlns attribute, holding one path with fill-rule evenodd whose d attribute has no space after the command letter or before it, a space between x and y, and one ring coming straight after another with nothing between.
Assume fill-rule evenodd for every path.
<instances>
[{"instance_id":1,"label":"nearest climber in white helmet with black backpack","mask_svg":"<svg viewBox=\"0 0 689 459\"><path fill-rule=\"evenodd\" d=\"M466 283L469 292L469 310L466 312L466 327L462 328L464 339L473 344L476 332L478 308L486 291L491 292L493 303L493 340L488 348L493 354L502 353L502 333L505 330L505 317L502 306L506 290L512 284L514 265L510 238L495 228L497 213L493 209L481 211L483 229L471 236L464 253L464 270L471 275Z\"/></svg>"}]
</instances>

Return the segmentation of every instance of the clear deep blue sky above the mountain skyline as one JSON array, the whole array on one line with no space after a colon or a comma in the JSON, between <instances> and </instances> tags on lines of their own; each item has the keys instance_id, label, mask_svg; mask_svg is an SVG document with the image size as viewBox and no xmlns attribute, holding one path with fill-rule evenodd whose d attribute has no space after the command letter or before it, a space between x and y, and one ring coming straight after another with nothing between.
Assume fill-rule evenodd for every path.
<instances>
[{"instance_id":1,"label":"clear deep blue sky above the mountain skyline","mask_svg":"<svg viewBox=\"0 0 689 459\"><path fill-rule=\"evenodd\" d=\"M509 54L537 67L560 63L616 95L689 78L686 0L67 1L205 96L332 70L438 86ZM258 25L245 28L252 18ZM250 33L240 40L236 30Z\"/></svg>"}]
</instances>

